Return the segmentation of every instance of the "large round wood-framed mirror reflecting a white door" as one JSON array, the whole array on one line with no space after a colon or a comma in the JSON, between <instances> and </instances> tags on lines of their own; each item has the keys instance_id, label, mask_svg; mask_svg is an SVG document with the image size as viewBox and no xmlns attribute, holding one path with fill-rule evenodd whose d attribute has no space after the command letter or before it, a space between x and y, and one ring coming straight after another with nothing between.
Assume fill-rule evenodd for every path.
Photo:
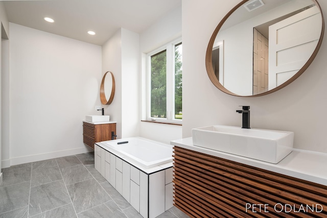
<instances>
[{"instance_id":1,"label":"large round wood-framed mirror reflecting a white door","mask_svg":"<svg viewBox=\"0 0 327 218\"><path fill-rule=\"evenodd\" d=\"M244 0L214 31L205 57L207 74L231 95L272 93L308 68L323 32L315 0Z\"/></svg>"}]
</instances>

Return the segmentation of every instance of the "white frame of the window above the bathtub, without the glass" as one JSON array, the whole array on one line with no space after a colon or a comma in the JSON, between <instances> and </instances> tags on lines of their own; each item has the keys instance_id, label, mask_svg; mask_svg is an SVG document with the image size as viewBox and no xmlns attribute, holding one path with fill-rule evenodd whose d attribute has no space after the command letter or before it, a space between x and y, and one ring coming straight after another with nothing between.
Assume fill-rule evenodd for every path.
<instances>
[{"instance_id":1,"label":"white frame of the window above the bathtub, without the glass","mask_svg":"<svg viewBox=\"0 0 327 218\"><path fill-rule=\"evenodd\" d=\"M182 124L175 118L175 45L181 38L171 41L146 54L146 119L161 123ZM166 50L166 118L151 117L151 56Z\"/></svg>"}]
</instances>

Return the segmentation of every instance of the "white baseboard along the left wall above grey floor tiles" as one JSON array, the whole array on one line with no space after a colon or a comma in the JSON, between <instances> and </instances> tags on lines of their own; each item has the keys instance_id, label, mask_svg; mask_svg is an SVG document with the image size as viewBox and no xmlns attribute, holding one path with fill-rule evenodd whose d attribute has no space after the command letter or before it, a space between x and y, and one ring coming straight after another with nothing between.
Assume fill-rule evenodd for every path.
<instances>
[{"instance_id":1,"label":"white baseboard along the left wall above grey floor tiles","mask_svg":"<svg viewBox=\"0 0 327 218\"><path fill-rule=\"evenodd\" d=\"M57 152L50 152L50 153L43 153L43 154L35 154L35 155L29 155L29 156L21 156L21 157L13 157L10 158L10 166L22 164L22 163L30 163L40 160L48 160L52 158L58 158L58 157L65 157L69 155L76 155L76 154L83 154L88 152L93 152L94 150L85 147L85 148L77 148L77 149L68 149L68 150L62 150ZM7 166L8 163L3 164L3 167ZM9 166L7 166L9 167Z\"/></svg>"}]
</instances>

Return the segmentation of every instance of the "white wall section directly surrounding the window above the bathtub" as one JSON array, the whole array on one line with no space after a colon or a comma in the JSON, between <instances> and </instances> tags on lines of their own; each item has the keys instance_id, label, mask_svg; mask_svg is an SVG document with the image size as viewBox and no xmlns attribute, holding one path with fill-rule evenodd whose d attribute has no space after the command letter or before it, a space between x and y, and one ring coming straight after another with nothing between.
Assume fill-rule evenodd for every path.
<instances>
[{"instance_id":1,"label":"white wall section directly surrounding the window above the bathtub","mask_svg":"<svg viewBox=\"0 0 327 218\"><path fill-rule=\"evenodd\" d=\"M145 64L144 58L146 54L158 49L158 47L167 44L168 42L181 37L182 23L181 23L181 7L172 10L165 17L162 17L154 25L140 34L140 50L142 53L142 119L146 118L145 110ZM182 41L182 43L184 43ZM184 45L183 45L184 46ZM183 51L184 54L184 51ZM184 72L183 72L184 73ZM183 106L184 107L184 106ZM184 111L184 108L183 108ZM170 143L171 140L182 137L182 127L176 125L156 124L149 122L141 122L140 136L157 140L164 143Z\"/></svg>"}]
</instances>

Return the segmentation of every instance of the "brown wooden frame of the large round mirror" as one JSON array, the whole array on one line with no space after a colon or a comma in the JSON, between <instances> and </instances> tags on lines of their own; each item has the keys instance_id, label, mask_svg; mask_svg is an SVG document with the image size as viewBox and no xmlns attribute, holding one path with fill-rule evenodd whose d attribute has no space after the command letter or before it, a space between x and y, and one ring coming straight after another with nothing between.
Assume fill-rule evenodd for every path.
<instances>
[{"instance_id":1,"label":"brown wooden frame of the large round mirror","mask_svg":"<svg viewBox=\"0 0 327 218\"><path fill-rule=\"evenodd\" d=\"M262 96L262 95L266 95L266 94L270 94L272 92L275 92L279 89L284 88L285 86L289 85L290 83L292 83L295 79L297 79L308 67L309 65L312 63L312 61L314 60L314 58L316 57L319 49L320 49L320 45L322 43L322 38L323 38L323 34L324 34L324 18L322 15L322 11L320 8L320 5L318 4L318 2L316 0L312 0L314 2L314 4L317 5L318 9L320 10L321 13L321 19L322 19L322 27L321 27L321 35L319 38L319 41L317 43L317 46L314 50L314 52L312 53L311 57L308 59L308 61L305 63L305 65L302 66L302 68L293 76L291 77L289 80L287 80L285 83L271 89L268 90L266 92L260 93L260 94L255 94L255 95L239 95L239 94L235 94L231 91L229 91L228 89L226 89L217 79L216 75L215 75L215 71L213 69L213 63L212 63L212 53L213 53L213 46L214 46L214 42L215 39L217 37L217 34L219 32L219 30L221 29L221 27L223 26L224 22L227 20L227 18L234 12L236 11L239 7L241 7L244 3L248 2L249 0L243 0L242 2L240 2L238 5L236 5L233 9L231 9L225 16L224 18L220 21L220 23L218 24L217 28L215 29L212 37L209 40L208 43L208 47L206 50L206 55L205 55L205 67L207 70L207 74L209 79L212 81L212 83L221 91L230 94L230 95L234 95L234 96L244 96L244 97L254 97L254 96Z\"/></svg>"}]
</instances>

